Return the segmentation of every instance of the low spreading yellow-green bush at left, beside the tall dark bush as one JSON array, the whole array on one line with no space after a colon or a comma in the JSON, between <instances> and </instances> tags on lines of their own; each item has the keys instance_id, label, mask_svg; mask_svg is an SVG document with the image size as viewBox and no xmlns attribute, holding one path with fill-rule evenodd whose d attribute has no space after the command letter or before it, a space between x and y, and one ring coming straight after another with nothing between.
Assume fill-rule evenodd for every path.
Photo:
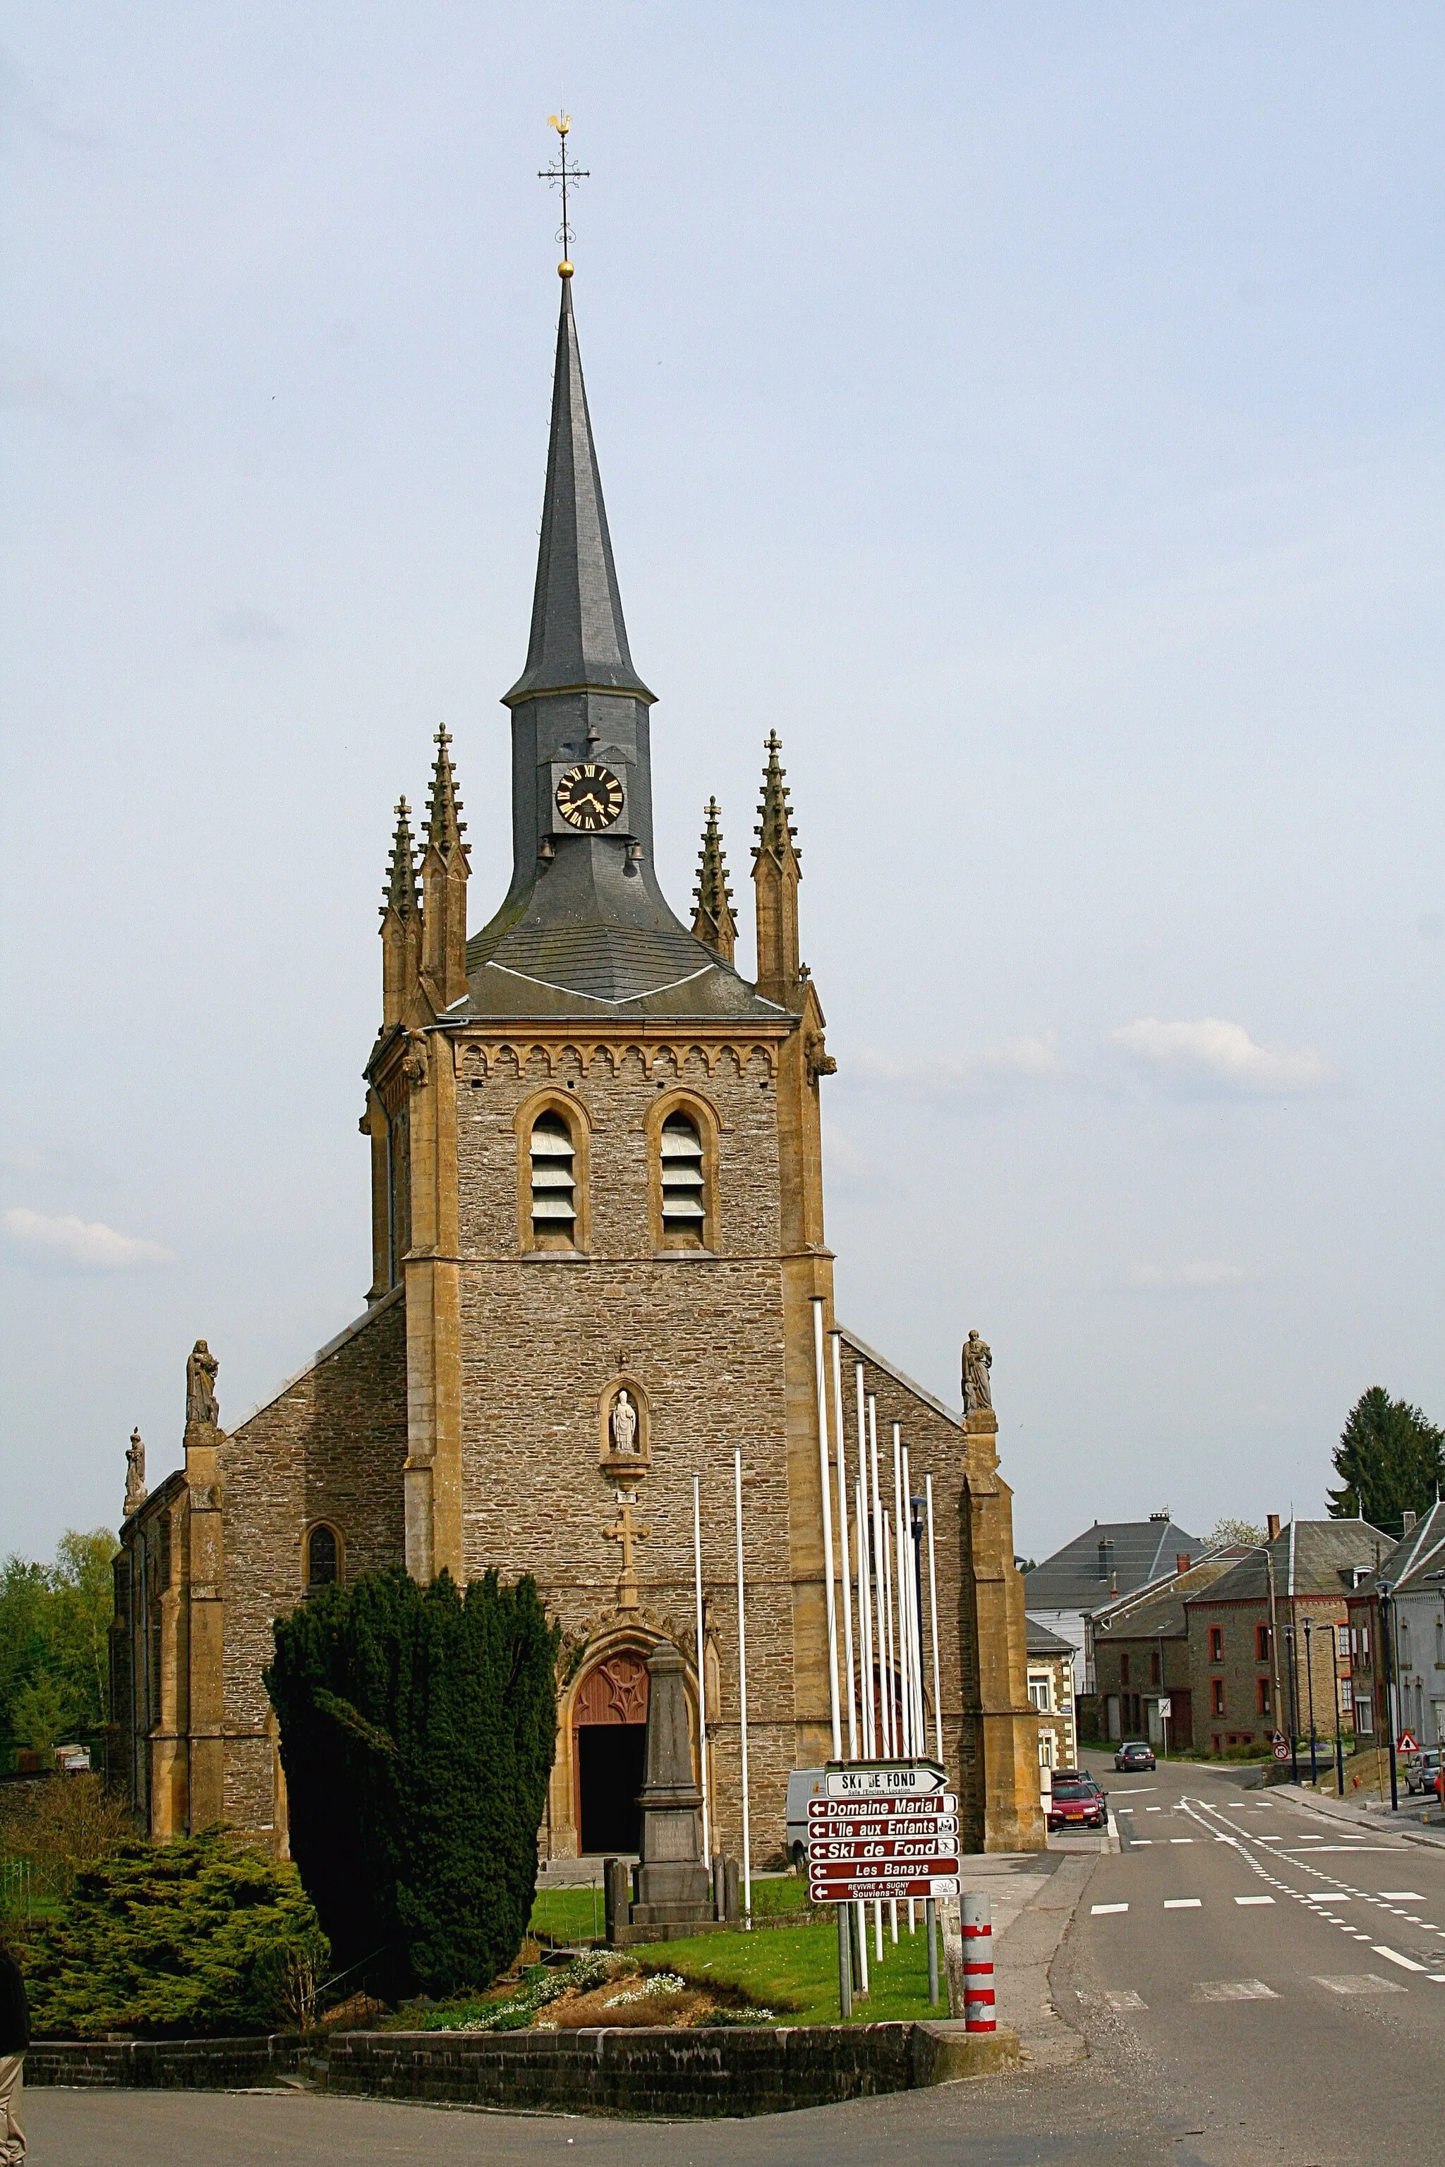
<instances>
[{"instance_id":1,"label":"low spreading yellow-green bush at left, beside the tall dark bush","mask_svg":"<svg viewBox=\"0 0 1445 2167\"><path fill-rule=\"evenodd\" d=\"M52 2039L295 2024L297 1976L329 1957L295 1866L219 1829L82 1868L61 1916L17 1948L32 2030Z\"/></svg>"}]
</instances>

